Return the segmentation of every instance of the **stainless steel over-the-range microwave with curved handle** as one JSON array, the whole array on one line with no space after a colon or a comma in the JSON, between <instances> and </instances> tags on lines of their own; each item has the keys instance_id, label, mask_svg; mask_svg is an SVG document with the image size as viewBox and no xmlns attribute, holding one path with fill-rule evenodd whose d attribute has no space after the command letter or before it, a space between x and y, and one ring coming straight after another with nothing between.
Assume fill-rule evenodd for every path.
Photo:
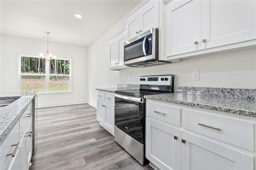
<instances>
[{"instance_id":1,"label":"stainless steel over-the-range microwave with curved handle","mask_svg":"<svg viewBox=\"0 0 256 170\"><path fill-rule=\"evenodd\" d=\"M132 67L172 63L158 59L158 29L152 28L124 43L124 64Z\"/></svg>"}]
</instances>

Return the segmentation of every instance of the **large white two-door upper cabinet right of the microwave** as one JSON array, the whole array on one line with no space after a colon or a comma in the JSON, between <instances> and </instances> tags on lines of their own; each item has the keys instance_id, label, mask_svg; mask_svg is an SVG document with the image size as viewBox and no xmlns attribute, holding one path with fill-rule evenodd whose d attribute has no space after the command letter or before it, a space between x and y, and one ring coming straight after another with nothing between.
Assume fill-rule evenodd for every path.
<instances>
[{"instance_id":1,"label":"large white two-door upper cabinet right of the microwave","mask_svg":"<svg viewBox=\"0 0 256 170\"><path fill-rule=\"evenodd\" d=\"M255 6L254 0L174 0L166 5L166 56L255 45Z\"/></svg>"}]
</instances>

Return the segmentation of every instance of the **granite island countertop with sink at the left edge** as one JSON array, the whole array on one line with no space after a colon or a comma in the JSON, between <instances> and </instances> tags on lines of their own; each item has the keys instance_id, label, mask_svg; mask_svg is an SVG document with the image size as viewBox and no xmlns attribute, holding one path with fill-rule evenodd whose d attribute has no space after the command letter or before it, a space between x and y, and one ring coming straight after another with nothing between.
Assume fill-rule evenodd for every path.
<instances>
[{"instance_id":1,"label":"granite island countertop with sink at the left edge","mask_svg":"<svg viewBox=\"0 0 256 170\"><path fill-rule=\"evenodd\" d=\"M17 96L20 96L18 98ZM4 92L0 93L0 100L16 99L8 106L0 107L0 144L13 129L28 104L36 96L36 92Z\"/></svg>"}]
</instances>

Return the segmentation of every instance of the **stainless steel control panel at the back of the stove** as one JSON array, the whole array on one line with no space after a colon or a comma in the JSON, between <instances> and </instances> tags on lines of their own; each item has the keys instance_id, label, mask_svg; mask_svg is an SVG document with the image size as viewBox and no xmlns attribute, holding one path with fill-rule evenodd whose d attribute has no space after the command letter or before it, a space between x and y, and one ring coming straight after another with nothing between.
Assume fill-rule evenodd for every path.
<instances>
[{"instance_id":1,"label":"stainless steel control panel at the back of the stove","mask_svg":"<svg viewBox=\"0 0 256 170\"><path fill-rule=\"evenodd\" d=\"M174 75L160 75L160 76L140 76L139 84L143 85L172 85Z\"/></svg>"}]
</instances>

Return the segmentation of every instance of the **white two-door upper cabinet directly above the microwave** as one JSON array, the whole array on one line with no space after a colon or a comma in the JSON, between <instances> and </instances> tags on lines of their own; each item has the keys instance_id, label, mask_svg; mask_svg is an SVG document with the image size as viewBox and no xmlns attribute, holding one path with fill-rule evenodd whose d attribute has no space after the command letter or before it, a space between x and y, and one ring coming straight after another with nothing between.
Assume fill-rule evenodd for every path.
<instances>
[{"instance_id":1,"label":"white two-door upper cabinet directly above the microwave","mask_svg":"<svg viewBox=\"0 0 256 170\"><path fill-rule=\"evenodd\" d=\"M159 1L142 1L126 18L126 38L132 39L152 28L159 27Z\"/></svg>"}]
</instances>

